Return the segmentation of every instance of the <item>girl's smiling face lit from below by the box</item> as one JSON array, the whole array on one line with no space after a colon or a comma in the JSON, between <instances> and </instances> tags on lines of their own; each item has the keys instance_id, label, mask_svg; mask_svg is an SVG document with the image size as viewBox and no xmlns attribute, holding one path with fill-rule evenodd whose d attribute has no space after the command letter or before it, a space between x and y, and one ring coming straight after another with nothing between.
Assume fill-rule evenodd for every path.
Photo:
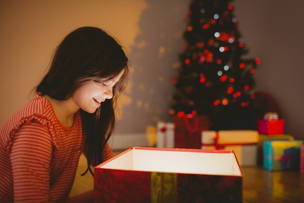
<instances>
[{"instance_id":1,"label":"girl's smiling face lit from below by the box","mask_svg":"<svg viewBox=\"0 0 304 203\"><path fill-rule=\"evenodd\" d=\"M88 113L94 113L101 106L101 102L113 97L113 87L119 81L122 74L123 72L115 79L103 83L92 80L83 82L75 90L71 99L79 109Z\"/></svg>"}]
</instances>

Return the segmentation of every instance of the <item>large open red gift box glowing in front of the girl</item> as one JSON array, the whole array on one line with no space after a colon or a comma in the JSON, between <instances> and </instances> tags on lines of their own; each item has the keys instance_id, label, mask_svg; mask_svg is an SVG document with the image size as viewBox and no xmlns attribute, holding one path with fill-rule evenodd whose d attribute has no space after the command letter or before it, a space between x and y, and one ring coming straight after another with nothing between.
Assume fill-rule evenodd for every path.
<instances>
[{"instance_id":1,"label":"large open red gift box glowing in front of the girl","mask_svg":"<svg viewBox=\"0 0 304 203\"><path fill-rule=\"evenodd\" d=\"M129 148L94 168L95 203L241 203L232 150Z\"/></svg>"}]
</instances>

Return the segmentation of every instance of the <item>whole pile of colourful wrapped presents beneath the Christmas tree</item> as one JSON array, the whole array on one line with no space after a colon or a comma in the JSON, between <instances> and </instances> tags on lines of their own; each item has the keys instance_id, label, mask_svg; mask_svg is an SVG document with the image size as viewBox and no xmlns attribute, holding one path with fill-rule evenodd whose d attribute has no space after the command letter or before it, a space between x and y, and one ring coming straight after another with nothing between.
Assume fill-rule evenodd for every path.
<instances>
[{"instance_id":1,"label":"whole pile of colourful wrapped presents beneath the Christmas tree","mask_svg":"<svg viewBox=\"0 0 304 203\"><path fill-rule=\"evenodd\" d=\"M233 150L240 166L262 166L269 171L299 169L304 174L304 143L284 132L284 119L268 112L257 130L209 130L205 116L174 117L157 124L157 148Z\"/></svg>"}]
</instances>

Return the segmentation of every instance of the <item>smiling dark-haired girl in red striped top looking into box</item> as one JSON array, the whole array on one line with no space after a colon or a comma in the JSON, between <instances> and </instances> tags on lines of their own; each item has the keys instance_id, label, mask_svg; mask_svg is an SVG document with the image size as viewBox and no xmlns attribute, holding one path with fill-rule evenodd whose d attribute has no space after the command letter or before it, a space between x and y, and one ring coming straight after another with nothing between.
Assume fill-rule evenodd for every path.
<instances>
[{"instance_id":1,"label":"smiling dark-haired girl in red striped top looking into box","mask_svg":"<svg viewBox=\"0 0 304 203\"><path fill-rule=\"evenodd\" d=\"M107 33L82 27L68 34L34 99L0 128L0 203L93 202L92 190L68 194L82 152L85 173L114 156L107 141L128 75L128 58Z\"/></svg>"}]
</instances>

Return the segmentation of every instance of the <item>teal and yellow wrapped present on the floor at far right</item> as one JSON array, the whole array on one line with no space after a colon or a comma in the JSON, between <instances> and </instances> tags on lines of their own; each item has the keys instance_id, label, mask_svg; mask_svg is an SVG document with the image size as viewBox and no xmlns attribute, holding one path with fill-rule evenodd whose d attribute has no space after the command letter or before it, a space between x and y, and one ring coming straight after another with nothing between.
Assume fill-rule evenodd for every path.
<instances>
[{"instance_id":1,"label":"teal and yellow wrapped present on the floor at far right","mask_svg":"<svg viewBox=\"0 0 304 203\"><path fill-rule=\"evenodd\" d=\"M303 140L264 141L264 168L270 171L299 169Z\"/></svg>"}]
</instances>

